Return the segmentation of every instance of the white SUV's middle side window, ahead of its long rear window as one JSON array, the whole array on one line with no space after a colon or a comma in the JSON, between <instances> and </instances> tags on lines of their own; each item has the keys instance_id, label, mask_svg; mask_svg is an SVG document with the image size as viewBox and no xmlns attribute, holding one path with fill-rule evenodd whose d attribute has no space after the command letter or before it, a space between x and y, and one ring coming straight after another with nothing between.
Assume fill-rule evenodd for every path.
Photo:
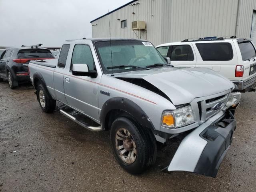
<instances>
[{"instance_id":1,"label":"white SUV's middle side window, ahead of its long rear window","mask_svg":"<svg viewBox=\"0 0 256 192\"><path fill-rule=\"evenodd\" d=\"M193 61L194 54L190 45L172 46L171 61Z\"/></svg>"}]
</instances>

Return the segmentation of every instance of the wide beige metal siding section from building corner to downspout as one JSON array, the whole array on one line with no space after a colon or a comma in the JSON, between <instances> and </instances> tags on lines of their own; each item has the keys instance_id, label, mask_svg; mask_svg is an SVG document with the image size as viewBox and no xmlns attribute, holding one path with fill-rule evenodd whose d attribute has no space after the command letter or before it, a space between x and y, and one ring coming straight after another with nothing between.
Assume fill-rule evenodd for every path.
<instances>
[{"instance_id":1,"label":"wide beige metal siding section from building corner to downspout","mask_svg":"<svg viewBox=\"0 0 256 192\"><path fill-rule=\"evenodd\" d=\"M162 0L161 43L234 35L238 0Z\"/></svg>"}]
</instances>

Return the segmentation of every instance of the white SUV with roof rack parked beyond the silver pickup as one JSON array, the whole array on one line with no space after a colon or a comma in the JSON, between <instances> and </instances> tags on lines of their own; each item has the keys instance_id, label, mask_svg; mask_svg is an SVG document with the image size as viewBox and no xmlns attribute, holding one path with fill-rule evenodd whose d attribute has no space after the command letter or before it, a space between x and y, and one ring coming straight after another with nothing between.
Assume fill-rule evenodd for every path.
<instances>
[{"instance_id":1,"label":"white SUV with roof rack parked beyond the silver pickup","mask_svg":"<svg viewBox=\"0 0 256 192\"><path fill-rule=\"evenodd\" d=\"M156 48L174 66L207 67L230 79L240 92L256 90L256 51L250 39L186 39Z\"/></svg>"}]
</instances>

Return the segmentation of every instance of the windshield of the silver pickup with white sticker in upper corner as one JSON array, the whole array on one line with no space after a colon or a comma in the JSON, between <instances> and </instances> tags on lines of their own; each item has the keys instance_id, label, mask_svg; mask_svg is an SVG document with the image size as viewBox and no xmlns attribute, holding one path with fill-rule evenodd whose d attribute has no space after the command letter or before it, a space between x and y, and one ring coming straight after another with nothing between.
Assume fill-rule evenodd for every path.
<instances>
[{"instance_id":1,"label":"windshield of the silver pickup with white sticker in upper corner","mask_svg":"<svg viewBox=\"0 0 256 192\"><path fill-rule=\"evenodd\" d=\"M154 64L166 64L162 55L150 42L136 40L111 41L110 49L110 41L102 41L96 42L95 48L98 53L102 69L106 74L112 73L112 70L114 73L120 73L134 70L145 70L143 68ZM118 68L118 66L122 67Z\"/></svg>"}]
</instances>

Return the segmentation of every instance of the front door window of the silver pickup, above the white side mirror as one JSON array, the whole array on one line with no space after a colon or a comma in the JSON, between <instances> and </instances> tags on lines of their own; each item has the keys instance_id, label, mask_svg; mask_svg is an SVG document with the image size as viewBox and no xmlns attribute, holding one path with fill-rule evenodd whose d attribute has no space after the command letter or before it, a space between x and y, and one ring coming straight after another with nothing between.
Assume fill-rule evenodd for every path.
<instances>
[{"instance_id":1,"label":"front door window of the silver pickup, above the white side mirror","mask_svg":"<svg viewBox=\"0 0 256 192\"><path fill-rule=\"evenodd\" d=\"M72 60L71 60L71 70L73 64L87 64L89 70L94 70L94 60L92 57L92 52L90 46L77 44L74 47Z\"/></svg>"}]
</instances>

